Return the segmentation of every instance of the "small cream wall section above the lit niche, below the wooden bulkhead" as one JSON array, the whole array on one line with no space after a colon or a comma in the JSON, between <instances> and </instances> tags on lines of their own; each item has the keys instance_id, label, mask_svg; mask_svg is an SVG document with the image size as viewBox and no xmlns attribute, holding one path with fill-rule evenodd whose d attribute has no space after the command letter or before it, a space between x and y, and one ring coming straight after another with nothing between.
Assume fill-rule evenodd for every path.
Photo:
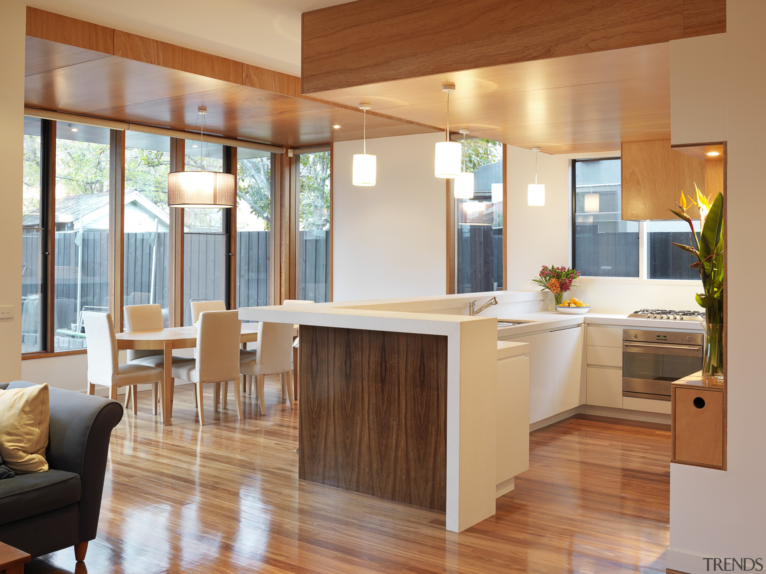
<instances>
[{"instance_id":1,"label":"small cream wall section above the lit niche, below the wooden bulkhead","mask_svg":"<svg viewBox=\"0 0 766 574\"><path fill-rule=\"evenodd\" d=\"M670 41L670 142L726 139L726 34Z\"/></svg>"}]
</instances>

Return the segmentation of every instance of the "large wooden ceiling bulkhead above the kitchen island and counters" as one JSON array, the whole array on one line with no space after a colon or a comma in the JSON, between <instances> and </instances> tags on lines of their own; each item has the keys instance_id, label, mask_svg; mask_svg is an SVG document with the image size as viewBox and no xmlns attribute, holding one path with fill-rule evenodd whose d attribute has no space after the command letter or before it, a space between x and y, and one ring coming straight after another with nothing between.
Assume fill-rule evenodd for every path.
<instances>
[{"instance_id":1,"label":"large wooden ceiling bulkhead above the kitchen island and counters","mask_svg":"<svg viewBox=\"0 0 766 574\"><path fill-rule=\"evenodd\" d=\"M356 0L303 14L304 94L543 152L670 137L669 41L725 0Z\"/></svg>"}]
</instances>

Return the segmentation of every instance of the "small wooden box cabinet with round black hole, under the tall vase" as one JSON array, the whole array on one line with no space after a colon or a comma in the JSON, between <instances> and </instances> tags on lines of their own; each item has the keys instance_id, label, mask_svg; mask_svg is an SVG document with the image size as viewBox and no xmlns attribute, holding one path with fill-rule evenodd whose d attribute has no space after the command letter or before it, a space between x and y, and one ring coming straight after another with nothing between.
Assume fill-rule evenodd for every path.
<instances>
[{"instance_id":1,"label":"small wooden box cabinet with round black hole, under the tall vase","mask_svg":"<svg viewBox=\"0 0 766 574\"><path fill-rule=\"evenodd\" d=\"M726 470L725 383L699 373L671 385L671 462Z\"/></svg>"}]
</instances>

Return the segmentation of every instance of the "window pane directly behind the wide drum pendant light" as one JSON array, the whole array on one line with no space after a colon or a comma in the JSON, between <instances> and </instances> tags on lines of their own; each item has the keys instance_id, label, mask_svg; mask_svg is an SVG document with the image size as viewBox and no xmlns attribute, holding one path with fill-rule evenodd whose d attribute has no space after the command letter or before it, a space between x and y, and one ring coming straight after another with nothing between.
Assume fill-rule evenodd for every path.
<instances>
[{"instance_id":1,"label":"window pane directly behind the wide drum pendant light","mask_svg":"<svg viewBox=\"0 0 766 574\"><path fill-rule=\"evenodd\" d=\"M187 139L185 148L185 171L223 171L223 145ZM191 325L192 301L228 304L227 223L224 209L184 209L184 325Z\"/></svg>"}]
</instances>

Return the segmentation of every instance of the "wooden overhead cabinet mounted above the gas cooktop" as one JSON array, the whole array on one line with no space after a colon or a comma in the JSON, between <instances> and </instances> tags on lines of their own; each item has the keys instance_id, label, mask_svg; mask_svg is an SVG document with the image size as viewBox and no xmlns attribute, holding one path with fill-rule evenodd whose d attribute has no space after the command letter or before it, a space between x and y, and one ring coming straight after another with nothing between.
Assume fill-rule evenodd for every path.
<instances>
[{"instance_id":1,"label":"wooden overhead cabinet mounted above the gas cooktop","mask_svg":"<svg viewBox=\"0 0 766 574\"><path fill-rule=\"evenodd\" d=\"M705 192L705 161L670 147L670 140L622 145L622 219L675 220L681 191L694 197L694 184ZM699 218L696 207L688 210Z\"/></svg>"}]
</instances>

